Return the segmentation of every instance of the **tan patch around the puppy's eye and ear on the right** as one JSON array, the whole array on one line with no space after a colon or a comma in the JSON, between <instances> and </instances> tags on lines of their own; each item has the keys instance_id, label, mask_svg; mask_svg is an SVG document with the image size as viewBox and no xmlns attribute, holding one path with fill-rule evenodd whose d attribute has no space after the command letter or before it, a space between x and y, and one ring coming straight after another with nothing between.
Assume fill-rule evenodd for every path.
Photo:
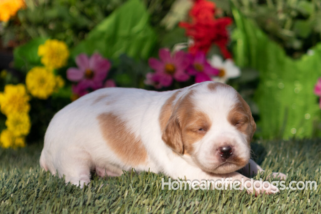
<instances>
[{"instance_id":1,"label":"tan patch around the puppy's eye and ear on the right","mask_svg":"<svg viewBox=\"0 0 321 214\"><path fill-rule=\"evenodd\" d=\"M228 121L237 130L244 133L247 136L248 146L252 141L253 134L256 130L256 124L254 122L251 109L242 96L237 93L237 102L229 112Z\"/></svg>"}]
</instances>

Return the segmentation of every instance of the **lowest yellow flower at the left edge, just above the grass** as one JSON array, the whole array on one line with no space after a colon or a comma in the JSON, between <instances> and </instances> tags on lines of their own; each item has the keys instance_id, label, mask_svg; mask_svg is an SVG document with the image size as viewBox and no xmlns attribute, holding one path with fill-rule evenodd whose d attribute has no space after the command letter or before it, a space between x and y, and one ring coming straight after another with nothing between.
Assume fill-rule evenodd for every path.
<instances>
[{"instance_id":1,"label":"lowest yellow flower at the left edge, just above the grass","mask_svg":"<svg viewBox=\"0 0 321 214\"><path fill-rule=\"evenodd\" d=\"M4 129L0 134L0 145L5 149L9 147L24 147L25 141L23 136L16 137L8 129Z\"/></svg>"}]
</instances>

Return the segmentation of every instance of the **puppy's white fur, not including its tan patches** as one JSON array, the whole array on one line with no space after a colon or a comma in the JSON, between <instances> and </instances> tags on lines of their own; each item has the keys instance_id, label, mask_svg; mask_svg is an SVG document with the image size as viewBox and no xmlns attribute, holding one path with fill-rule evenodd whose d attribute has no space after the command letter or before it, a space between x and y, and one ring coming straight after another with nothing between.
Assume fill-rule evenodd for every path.
<instances>
[{"instance_id":1,"label":"puppy's white fur, not including its tan patches","mask_svg":"<svg viewBox=\"0 0 321 214\"><path fill-rule=\"evenodd\" d=\"M112 176L120 175L122 170L130 170L133 166L124 163L122 158L109 148L100 131L97 116L113 113L126 122L127 129L142 139L147 151L147 161L135 166L136 171L163 172L174 179L202 180L230 176L240 179L242 175L237 172L214 175L199 167L199 164L217 164L218 157L211 151L222 146L225 141L233 143L237 156L248 160L250 154L246 136L227 121L229 110L237 102L237 92L226 87L211 92L207 87L209 83L210 81L197 83L181 89L174 101L177 102L179 97L187 94L193 87L197 91L193 95L195 106L208 115L211 121L215 121L205 136L195 142L193 157L176 154L161 138L161 107L177 90L156 92L132 88L104 88L77 99L56 113L45 135L40 165L52 174L57 171L60 177L65 175L66 183L81 186L90 182L90 171L95 169L102 173L106 170L107 175ZM93 104L102 95L108 96ZM113 102L107 105L108 101ZM251 164L253 163L252 161Z\"/></svg>"}]
</instances>

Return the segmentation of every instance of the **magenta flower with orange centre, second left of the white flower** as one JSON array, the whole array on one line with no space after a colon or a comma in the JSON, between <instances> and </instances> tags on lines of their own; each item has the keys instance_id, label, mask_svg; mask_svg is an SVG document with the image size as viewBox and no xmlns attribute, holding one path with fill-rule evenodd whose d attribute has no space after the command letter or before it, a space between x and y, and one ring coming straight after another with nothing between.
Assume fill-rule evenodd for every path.
<instances>
[{"instance_id":1,"label":"magenta flower with orange centre, second left of the white flower","mask_svg":"<svg viewBox=\"0 0 321 214\"><path fill-rule=\"evenodd\" d=\"M170 86L173 78L180 82L189 79L189 75L185 72L189 64L185 52L178 51L171 56L168 49L162 48L159 50L159 57L160 60L150 58L148 64L156 71L153 78L159 83L160 87Z\"/></svg>"}]
</instances>

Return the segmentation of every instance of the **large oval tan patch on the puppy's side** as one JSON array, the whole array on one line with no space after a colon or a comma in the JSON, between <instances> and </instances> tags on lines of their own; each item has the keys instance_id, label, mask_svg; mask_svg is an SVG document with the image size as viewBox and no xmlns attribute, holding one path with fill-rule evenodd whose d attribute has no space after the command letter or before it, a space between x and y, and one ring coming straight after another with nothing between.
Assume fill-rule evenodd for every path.
<instances>
[{"instance_id":1,"label":"large oval tan patch on the puppy's side","mask_svg":"<svg viewBox=\"0 0 321 214\"><path fill-rule=\"evenodd\" d=\"M130 166L138 166L147 159L147 151L140 137L136 137L126 127L126 123L113 113L103 113L97 117L100 131L108 146Z\"/></svg>"}]
</instances>

